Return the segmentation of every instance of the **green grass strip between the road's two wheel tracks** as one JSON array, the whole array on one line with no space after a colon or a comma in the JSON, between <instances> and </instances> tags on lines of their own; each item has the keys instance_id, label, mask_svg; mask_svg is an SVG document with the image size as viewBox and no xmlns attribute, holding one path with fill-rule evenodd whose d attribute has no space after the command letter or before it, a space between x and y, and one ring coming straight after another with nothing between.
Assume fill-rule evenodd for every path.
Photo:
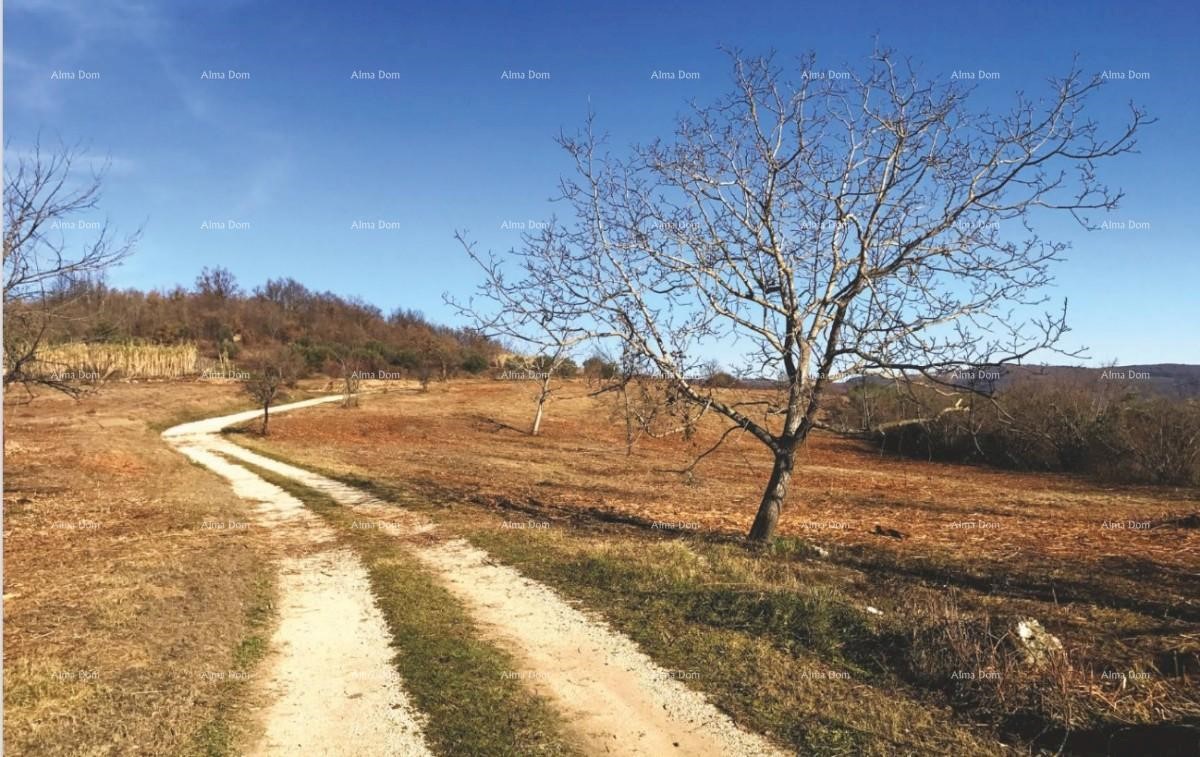
<instances>
[{"instance_id":1,"label":"green grass strip between the road's two wheel tracks","mask_svg":"<svg viewBox=\"0 0 1200 757\"><path fill-rule=\"evenodd\" d=\"M392 635L394 663L443 755L577 755L554 708L521 681L512 656L486 641L437 577L328 495L238 461L320 515L362 559Z\"/></svg>"}]
</instances>

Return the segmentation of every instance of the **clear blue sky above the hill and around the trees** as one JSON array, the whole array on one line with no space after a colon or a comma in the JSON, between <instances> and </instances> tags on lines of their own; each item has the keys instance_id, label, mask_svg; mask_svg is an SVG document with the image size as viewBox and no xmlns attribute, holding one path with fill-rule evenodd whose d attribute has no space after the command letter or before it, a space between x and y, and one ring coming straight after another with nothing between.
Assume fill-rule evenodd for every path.
<instances>
[{"instance_id":1,"label":"clear blue sky above the hill and around the trees","mask_svg":"<svg viewBox=\"0 0 1200 757\"><path fill-rule=\"evenodd\" d=\"M40 139L107 164L97 220L143 229L113 286L190 286L224 266L246 288L290 276L463 325L442 295L469 295L478 275L454 233L517 245L521 223L562 214L556 136L589 107L614 146L668 136L690 100L727 91L722 48L853 67L877 37L931 79L998 73L972 97L995 108L1040 94L1078 54L1085 71L1146 74L1110 80L1096 120L1117 127L1134 101L1158 122L1102 169L1126 192L1112 220L1136 228L1039 227L1072 244L1048 294L1069 299L1069 346L1092 365L1200 364L1198 8L8 0L5 160Z\"/></svg>"}]
</instances>

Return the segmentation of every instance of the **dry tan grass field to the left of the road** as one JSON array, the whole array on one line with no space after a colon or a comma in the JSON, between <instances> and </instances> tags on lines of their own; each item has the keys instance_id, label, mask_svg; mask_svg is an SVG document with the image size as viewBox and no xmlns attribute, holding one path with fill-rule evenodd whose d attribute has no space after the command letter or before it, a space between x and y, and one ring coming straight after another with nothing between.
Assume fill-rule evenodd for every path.
<instances>
[{"instance_id":1,"label":"dry tan grass field to the left of the road","mask_svg":"<svg viewBox=\"0 0 1200 757\"><path fill-rule=\"evenodd\" d=\"M239 402L110 385L5 408L10 753L230 749L274 573L245 503L152 426Z\"/></svg>"}]
</instances>

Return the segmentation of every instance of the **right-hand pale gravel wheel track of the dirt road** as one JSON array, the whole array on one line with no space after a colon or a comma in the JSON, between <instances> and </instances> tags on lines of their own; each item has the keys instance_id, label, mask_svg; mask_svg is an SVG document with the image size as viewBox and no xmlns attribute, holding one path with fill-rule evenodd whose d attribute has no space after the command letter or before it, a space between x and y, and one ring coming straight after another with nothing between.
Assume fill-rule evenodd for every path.
<instances>
[{"instance_id":1,"label":"right-hand pale gravel wheel track of the dirt road","mask_svg":"<svg viewBox=\"0 0 1200 757\"><path fill-rule=\"evenodd\" d=\"M311 404L314 403L280 409ZM187 433L211 433L238 420L193 423ZM210 452L222 452L290 477L365 516L388 521L398 539L425 536L419 540L420 545L410 543L409 548L442 576L480 627L514 653L522 666L521 678L557 703L589 751L781 753L760 737L738 728L701 693L641 653L628 637L575 609L550 588L496 564L485 552L462 540L430 540L427 536L433 530L430 523L344 483L224 440L203 438Z\"/></svg>"}]
</instances>

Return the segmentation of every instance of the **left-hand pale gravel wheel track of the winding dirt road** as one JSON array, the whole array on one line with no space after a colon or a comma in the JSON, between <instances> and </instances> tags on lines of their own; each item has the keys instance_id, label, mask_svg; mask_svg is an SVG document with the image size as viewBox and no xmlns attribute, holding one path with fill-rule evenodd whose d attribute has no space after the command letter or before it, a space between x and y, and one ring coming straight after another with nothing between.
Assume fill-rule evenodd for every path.
<instances>
[{"instance_id":1,"label":"left-hand pale gravel wheel track of the winding dirt road","mask_svg":"<svg viewBox=\"0 0 1200 757\"><path fill-rule=\"evenodd\" d=\"M280 563L280 624L253 697L268 702L264 733L250 753L427 757L420 715L391 666L388 629L362 564L299 499L214 453L227 444L214 432L256 416L242 413L163 433L190 459L228 480L239 497L258 503L256 519L287 553Z\"/></svg>"}]
</instances>

